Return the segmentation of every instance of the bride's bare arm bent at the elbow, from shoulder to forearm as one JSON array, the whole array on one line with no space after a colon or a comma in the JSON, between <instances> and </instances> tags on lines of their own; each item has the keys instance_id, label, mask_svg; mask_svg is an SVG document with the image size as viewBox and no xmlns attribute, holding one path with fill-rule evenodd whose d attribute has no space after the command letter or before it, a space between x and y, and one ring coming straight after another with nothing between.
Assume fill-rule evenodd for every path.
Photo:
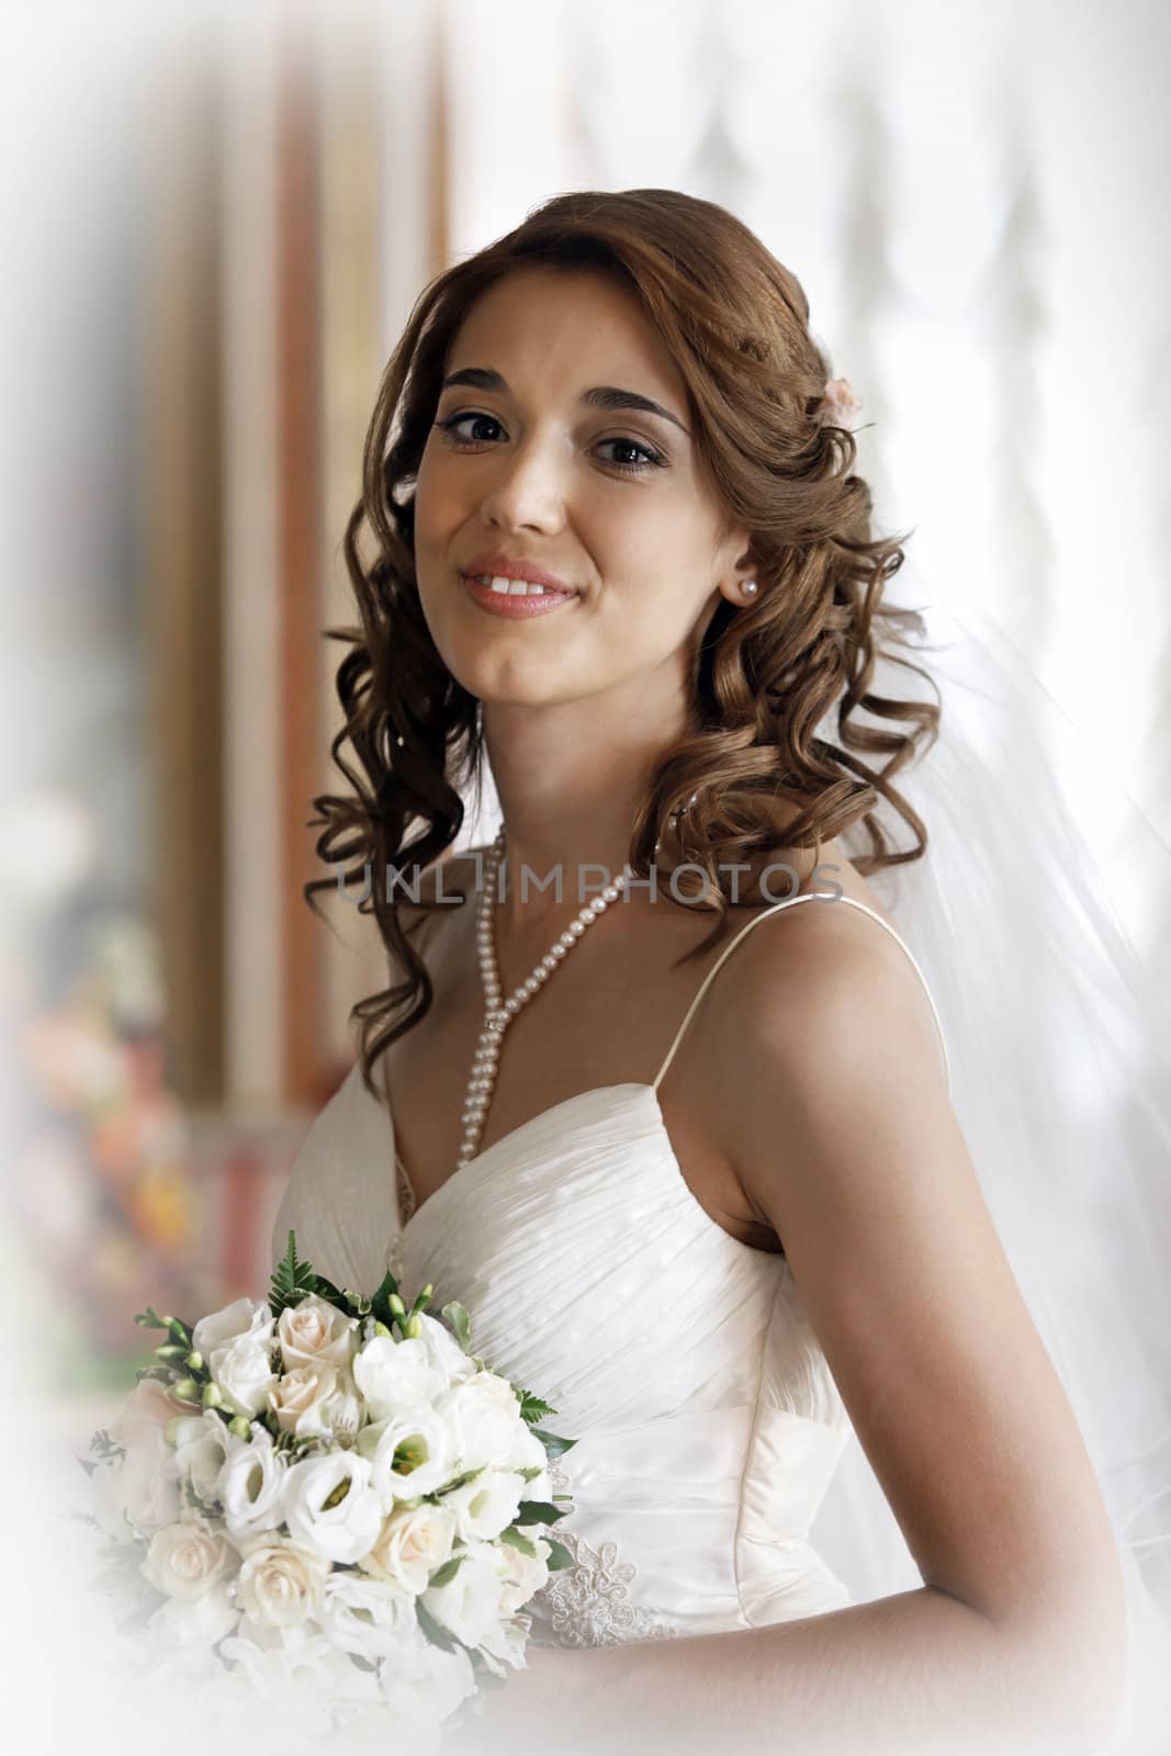
<instances>
[{"instance_id":1,"label":"bride's bare arm bent at the elbow, from shoulder to forearm","mask_svg":"<svg viewBox=\"0 0 1171 1756\"><path fill-rule=\"evenodd\" d=\"M930 1008L855 910L774 925L799 915L799 932L755 934L704 1036L727 1150L785 1243L923 1586L751 1631L537 1652L507 1684L516 1724L546 1700L546 1738L576 1730L597 1751L646 1749L655 1728L664 1749L693 1735L778 1756L1101 1749L1125 1659L1115 1540L980 1194Z\"/></svg>"}]
</instances>

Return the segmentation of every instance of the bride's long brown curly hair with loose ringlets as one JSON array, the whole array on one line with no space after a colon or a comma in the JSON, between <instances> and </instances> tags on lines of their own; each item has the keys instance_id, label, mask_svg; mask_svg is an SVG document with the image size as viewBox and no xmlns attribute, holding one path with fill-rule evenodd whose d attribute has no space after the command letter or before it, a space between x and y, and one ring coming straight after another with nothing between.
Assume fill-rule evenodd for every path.
<instances>
[{"instance_id":1,"label":"bride's long brown curly hair with loose ringlets","mask_svg":"<svg viewBox=\"0 0 1171 1756\"><path fill-rule=\"evenodd\" d=\"M421 869L451 846L462 792L478 795L483 778L479 702L441 660L420 606L413 488L449 344L476 299L525 263L602 269L641 300L685 379L700 469L730 518L753 534L758 597L716 606L695 657L688 732L664 750L630 829L629 862L644 878L660 838L686 811L678 843L706 882L702 903L679 906L713 908L718 920L681 961L720 939L730 901L722 871L734 864L753 866L781 845L820 850L858 824L869 839L855 855L864 874L927 848L892 776L938 736L938 690L929 702L871 688L880 655L930 683L890 651L923 623L918 611L881 601L904 539L871 529L853 435L829 418L829 363L809 334L801 284L713 202L678 190L557 195L418 297L379 385L362 497L346 525L360 627L327 637L351 648L337 669L344 725L330 752L353 795L316 797L320 815L309 822L325 825L318 855L346 869L304 894L316 910L314 892L365 873L358 906L374 913L392 968L406 971L351 1013L372 1096L374 1062L432 1003L430 976L399 918L400 889L418 890ZM365 560L363 527L372 539ZM860 725L858 709L892 725ZM829 715L836 738L825 736ZM881 801L909 824L911 848L890 848L876 815ZM384 876L381 894L372 873Z\"/></svg>"}]
</instances>

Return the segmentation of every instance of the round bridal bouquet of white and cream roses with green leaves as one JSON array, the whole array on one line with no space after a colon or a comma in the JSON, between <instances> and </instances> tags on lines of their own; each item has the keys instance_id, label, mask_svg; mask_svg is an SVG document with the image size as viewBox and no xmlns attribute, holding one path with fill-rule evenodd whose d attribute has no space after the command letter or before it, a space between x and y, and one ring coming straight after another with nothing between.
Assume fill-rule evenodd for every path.
<instances>
[{"instance_id":1,"label":"round bridal bouquet of white and cream roses with green leaves","mask_svg":"<svg viewBox=\"0 0 1171 1756\"><path fill-rule=\"evenodd\" d=\"M290 1231L267 1301L193 1328L135 1317L169 1333L158 1364L79 1459L112 1538L98 1584L142 1686L211 1684L204 1724L260 1700L265 1733L353 1747L367 1724L418 1751L525 1668L523 1607L572 1561L546 1466L574 1440L471 1354L462 1305L427 1315L430 1294L407 1310L390 1273L372 1298L339 1291Z\"/></svg>"}]
</instances>

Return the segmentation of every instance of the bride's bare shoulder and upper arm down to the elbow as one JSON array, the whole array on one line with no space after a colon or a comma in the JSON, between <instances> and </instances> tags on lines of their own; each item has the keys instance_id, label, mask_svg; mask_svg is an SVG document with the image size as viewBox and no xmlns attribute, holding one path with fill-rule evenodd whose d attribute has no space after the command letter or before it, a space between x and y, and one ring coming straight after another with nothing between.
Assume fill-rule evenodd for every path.
<instances>
[{"instance_id":1,"label":"bride's bare shoulder and upper arm down to the elbow","mask_svg":"<svg viewBox=\"0 0 1171 1756\"><path fill-rule=\"evenodd\" d=\"M785 1240L923 1580L1036 1640L1039 1666L1064 1661L1087 1630L1052 1607L1111 1601L1108 1524L952 1108L923 985L841 903L779 910L748 945L739 980L716 983L723 1040L706 1034L723 1150Z\"/></svg>"}]
</instances>

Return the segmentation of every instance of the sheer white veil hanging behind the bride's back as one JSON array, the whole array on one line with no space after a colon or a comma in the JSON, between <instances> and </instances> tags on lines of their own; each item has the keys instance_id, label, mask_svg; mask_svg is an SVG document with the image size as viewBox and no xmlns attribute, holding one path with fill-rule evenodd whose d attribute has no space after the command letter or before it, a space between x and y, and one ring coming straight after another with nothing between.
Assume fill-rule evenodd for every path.
<instances>
[{"instance_id":1,"label":"sheer white veil hanging behind the bride's back","mask_svg":"<svg viewBox=\"0 0 1171 1756\"><path fill-rule=\"evenodd\" d=\"M1090 825L1110 824L1131 882L1160 901L1171 850L1120 787L1083 785L1080 734L992 625L913 602L925 643L909 657L943 722L897 787L929 852L871 883L930 987L955 1113L1118 1536L1132 1656L1111 1751L1155 1749L1171 1723L1171 1033ZM890 660L874 690L929 694ZM488 776L458 845L497 827ZM843 838L851 857L864 843ZM853 1435L809 1535L857 1601L922 1582Z\"/></svg>"}]
</instances>

